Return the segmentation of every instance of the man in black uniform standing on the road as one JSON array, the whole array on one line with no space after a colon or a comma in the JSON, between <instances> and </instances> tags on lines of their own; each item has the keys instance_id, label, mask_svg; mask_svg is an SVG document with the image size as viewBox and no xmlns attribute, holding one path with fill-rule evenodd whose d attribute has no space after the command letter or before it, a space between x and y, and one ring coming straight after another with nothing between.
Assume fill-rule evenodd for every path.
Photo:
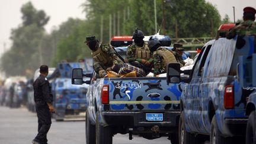
<instances>
[{"instance_id":1,"label":"man in black uniform standing on the road","mask_svg":"<svg viewBox=\"0 0 256 144\"><path fill-rule=\"evenodd\" d=\"M34 81L34 101L36 103L36 112L38 117L38 134L32 140L33 144L47 144L47 132L50 129L51 113L55 113L52 105L53 97L50 93L50 84L47 81L48 66L40 66L40 75Z\"/></svg>"}]
</instances>

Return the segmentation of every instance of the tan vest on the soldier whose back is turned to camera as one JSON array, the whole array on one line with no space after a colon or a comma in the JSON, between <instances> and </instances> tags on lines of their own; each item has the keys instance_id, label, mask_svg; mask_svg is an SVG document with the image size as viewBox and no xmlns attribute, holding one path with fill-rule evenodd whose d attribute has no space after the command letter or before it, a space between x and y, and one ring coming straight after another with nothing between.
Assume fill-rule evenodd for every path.
<instances>
[{"instance_id":1,"label":"tan vest on the soldier whose back is turned to camera","mask_svg":"<svg viewBox=\"0 0 256 144\"><path fill-rule=\"evenodd\" d=\"M176 57L174 56L174 54L172 52L170 52L167 49L159 49L156 50L153 55L159 55L161 56L162 62L161 62L161 67L166 71L167 68L167 64L168 63L178 63L176 60Z\"/></svg>"}]
</instances>

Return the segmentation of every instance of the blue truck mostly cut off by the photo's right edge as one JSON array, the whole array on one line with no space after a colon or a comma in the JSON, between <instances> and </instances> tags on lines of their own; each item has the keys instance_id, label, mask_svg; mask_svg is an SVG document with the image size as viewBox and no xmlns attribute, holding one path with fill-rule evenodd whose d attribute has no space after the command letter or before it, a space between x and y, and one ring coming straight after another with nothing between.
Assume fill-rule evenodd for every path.
<instances>
[{"instance_id":1,"label":"blue truck mostly cut off by the photo's right edge","mask_svg":"<svg viewBox=\"0 0 256 144\"><path fill-rule=\"evenodd\" d=\"M248 116L246 143L256 143L256 53L252 57L239 57L238 78L243 89L251 90L247 97L246 116Z\"/></svg>"}]
</instances>

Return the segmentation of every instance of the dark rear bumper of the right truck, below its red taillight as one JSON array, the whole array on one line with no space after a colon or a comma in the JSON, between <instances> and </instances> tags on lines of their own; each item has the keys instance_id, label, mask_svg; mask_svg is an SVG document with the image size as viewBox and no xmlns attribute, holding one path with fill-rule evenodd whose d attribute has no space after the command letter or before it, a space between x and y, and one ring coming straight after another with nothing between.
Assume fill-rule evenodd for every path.
<instances>
[{"instance_id":1,"label":"dark rear bumper of the right truck, below its red taillight","mask_svg":"<svg viewBox=\"0 0 256 144\"><path fill-rule=\"evenodd\" d=\"M244 136L248 119L225 119L224 123L229 130L228 136Z\"/></svg>"}]
</instances>

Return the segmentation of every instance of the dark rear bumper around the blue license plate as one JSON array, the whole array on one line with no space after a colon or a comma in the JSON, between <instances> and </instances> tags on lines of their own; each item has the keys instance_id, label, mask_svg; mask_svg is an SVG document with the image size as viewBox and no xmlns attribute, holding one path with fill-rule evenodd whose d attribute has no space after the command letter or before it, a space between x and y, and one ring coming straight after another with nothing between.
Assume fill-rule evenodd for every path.
<instances>
[{"instance_id":1,"label":"dark rear bumper around the blue license plate","mask_svg":"<svg viewBox=\"0 0 256 144\"><path fill-rule=\"evenodd\" d=\"M146 113L155 112L124 112L124 111L103 111L103 117L108 125L126 127L178 127L180 111L165 111L163 121L148 121ZM159 111L158 111L159 113Z\"/></svg>"}]
</instances>

